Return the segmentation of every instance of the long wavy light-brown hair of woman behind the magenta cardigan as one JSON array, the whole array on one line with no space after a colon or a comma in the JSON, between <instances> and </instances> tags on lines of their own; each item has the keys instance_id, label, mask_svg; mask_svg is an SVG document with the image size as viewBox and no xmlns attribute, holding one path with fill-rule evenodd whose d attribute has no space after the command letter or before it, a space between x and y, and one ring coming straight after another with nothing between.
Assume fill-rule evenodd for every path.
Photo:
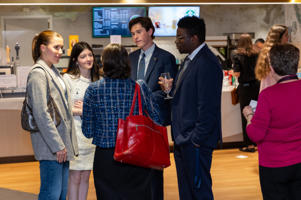
<instances>
[{"instance_id":1,"label":"long wavy light-brown hair of woman behind the magenta cardigan","mask_svg":"<svg viewBox=\"0 0 301 200\"><path fill-rule=\"evenodd\" d=\"M280 43L281 37L286 30L287 27L285 25L275 24L268 31L255 67L255 75L258 80L265 78L271 70L268 63L268 52L274 43Z\"/></svg>"}]
</instances>

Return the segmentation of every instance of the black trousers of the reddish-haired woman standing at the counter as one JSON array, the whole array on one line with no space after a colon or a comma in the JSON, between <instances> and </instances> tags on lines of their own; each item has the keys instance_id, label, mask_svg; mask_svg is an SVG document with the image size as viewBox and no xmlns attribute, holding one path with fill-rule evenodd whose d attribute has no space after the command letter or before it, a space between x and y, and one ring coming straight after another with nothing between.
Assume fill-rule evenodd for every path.
<instances>
[{"instance_id":1,"label":"black trousers of the reddish-haired woman standing at the counter","mask_svg":"<svg viewBox=\"0 0 301 200\"><path fill-rule=\"evenodd\" d=\"M254 145L255 143L249 138L247 134L247 120L244 117L242 110L245 106L250 104L251 100L258 100L260 90L260 81L239 81L238 96L241 111L241 123L242 123L242 134L243 144L245 146Z\"/></svg>"}]
</instances>

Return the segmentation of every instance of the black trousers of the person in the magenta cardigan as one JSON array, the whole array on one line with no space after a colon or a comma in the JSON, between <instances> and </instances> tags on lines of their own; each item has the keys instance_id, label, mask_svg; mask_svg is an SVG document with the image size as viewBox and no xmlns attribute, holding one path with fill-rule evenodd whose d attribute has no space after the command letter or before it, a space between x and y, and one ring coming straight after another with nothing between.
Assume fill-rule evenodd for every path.
<instances>
[{"instance_id":1,"label":"black trousers of the person in the magenta cardigan","mask_svg":"<svg viewBox=\"0 0 301 200\"><path fill-rule=\"evenodd\" d=\"M263 200L301 199L301 162L284 167L259 165Z\"/></svg>"}]
</instances>

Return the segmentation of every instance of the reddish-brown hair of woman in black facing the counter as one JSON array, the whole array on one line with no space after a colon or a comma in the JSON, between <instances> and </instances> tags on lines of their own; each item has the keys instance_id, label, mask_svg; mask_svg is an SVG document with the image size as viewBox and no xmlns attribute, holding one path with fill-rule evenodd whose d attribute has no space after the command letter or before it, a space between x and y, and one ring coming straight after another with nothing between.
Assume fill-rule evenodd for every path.
<instances>
[{"instance_id":1,"label":"reddish-brown hair of woman in black facing the counter","mask_svg":"<svg viewBox=\"0 0 301 200\"><path fill-rule=\"evenodd\" d=\"M247 55L249 57L259 54L259 51L253 47L252 37L248 33L242 33L239 36L236 53Z\"/></svg>"}]
</instances>

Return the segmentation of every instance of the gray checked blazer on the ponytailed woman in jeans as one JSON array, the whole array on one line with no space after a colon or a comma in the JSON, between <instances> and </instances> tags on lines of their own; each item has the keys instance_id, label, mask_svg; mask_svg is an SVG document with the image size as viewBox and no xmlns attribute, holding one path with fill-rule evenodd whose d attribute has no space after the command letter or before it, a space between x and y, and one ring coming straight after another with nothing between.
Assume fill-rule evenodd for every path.
<instances>
[{"instance_id":1,"label":"gray checked blazer on the ponytailed woman in jeans","mask_svg":"<svg viewBox=\"0 0 301 200\"><path fill-rule=\"evenodd\" d=\"M52 68L60 74L54 65L52 65ZM49 80L51 96L61 116L61 123L57 127L47 112L49 92L46 75ZM60 77L64 80L61 75ZM66 96L62 84L55 76L53 70L40 58L28 75L28 105L33 109L33 115L39 128L39 131L31 132L32 145L37 160L56 160L56 152L65 147L68 153L67 160L74 160L74 155L78 156L71 97L68 84L65 83L65 85L67 88ZM68 105L66 99L68 100Z\"/></svg>"}]
</instances>

